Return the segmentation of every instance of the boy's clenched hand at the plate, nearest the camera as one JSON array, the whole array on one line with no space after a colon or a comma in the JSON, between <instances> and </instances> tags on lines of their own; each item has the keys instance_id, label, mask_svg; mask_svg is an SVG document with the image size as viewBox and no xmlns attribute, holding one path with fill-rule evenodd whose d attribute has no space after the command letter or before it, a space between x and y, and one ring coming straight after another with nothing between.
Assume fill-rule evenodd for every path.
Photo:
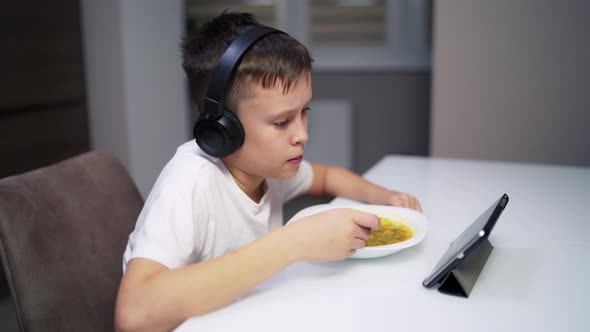
<instances>
[{"instance_id":1,"label":"boy's clenched hand at the plate, nearest the camera","mask_svg":"<svg viewBox=\"0 0 590 332\"><path fill-rule=\"evenodd\" d=\"M381 227L379 218L353 209L332 209L285 227L294 259L334 261L353 255L365 246L371 230Z\"/></svg>"}]
</instances>

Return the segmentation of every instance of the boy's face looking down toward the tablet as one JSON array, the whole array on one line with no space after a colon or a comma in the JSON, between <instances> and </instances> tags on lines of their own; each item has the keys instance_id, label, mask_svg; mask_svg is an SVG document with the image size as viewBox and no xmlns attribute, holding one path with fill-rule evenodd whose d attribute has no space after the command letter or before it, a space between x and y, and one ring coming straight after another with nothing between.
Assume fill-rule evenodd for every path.
<instances>
[{"instance_id":1,"label":"boy's face looking down toward the tablet","mask_svg":"<svg viewBox=\"0 0 590 332\"><path fill-rule=\"evenodd\" d=\"M311 75L304 73L286 94L280 84L269 89L257 84L253 92L238 105L244 144L224 161L242 181L289 178L299 170L308 139Z\"/></svg>"}]
</instances>

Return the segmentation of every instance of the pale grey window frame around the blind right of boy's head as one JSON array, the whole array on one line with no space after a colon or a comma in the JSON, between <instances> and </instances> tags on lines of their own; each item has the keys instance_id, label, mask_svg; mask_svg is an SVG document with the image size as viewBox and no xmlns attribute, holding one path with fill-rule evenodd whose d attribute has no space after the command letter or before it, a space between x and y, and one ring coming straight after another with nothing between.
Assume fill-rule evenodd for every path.
<instances>
[{"instance_id":1,"label":"pale grey window frame around the blind right of boy's head","mask_svg":"<svg viewBox=\"0 0 590 332\"><path fill-rule=\"evenodd\" d=\"M273 0L277 28L306 45L315 71L429 70L426 6L429 0L385 0L385 46L314 46L310 42L309 0ZM359 60L360 59L360 60Z\"/></svg>"}]
</instances>

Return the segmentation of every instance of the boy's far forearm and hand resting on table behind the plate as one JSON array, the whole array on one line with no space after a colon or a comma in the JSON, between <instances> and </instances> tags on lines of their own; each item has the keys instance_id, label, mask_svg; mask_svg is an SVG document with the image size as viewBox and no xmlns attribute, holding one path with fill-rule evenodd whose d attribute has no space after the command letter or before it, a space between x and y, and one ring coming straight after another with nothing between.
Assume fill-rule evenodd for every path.
<instances>
[{"instance_id":1,"label":"boy's far forearm and hand resting on table behind the plate","mask_svg":"<svg viewBox=\"0 0 590 332\"><path fill-rule=\"evenodd\" d=\"M341 196L371 204L393 205L422 211L412 195L389 190L371 183L341 167L311 163L313 182L307 192L314 196Z\"/></svg>"}]
</instances>

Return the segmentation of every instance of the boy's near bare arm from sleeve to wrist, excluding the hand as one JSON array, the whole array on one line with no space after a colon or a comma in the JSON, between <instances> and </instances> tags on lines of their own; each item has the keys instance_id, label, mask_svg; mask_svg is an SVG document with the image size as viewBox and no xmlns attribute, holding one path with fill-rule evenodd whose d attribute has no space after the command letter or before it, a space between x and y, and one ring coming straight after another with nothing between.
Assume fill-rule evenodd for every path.
<instances>
[{"instance_id":1,"label":"boy's near bare arm from sleeve to wrist, excluding the hand","mask_svg":"<svg viewBox=\"0 0 590 332\"><path fill-rule=\"evenodd\" d=\"M136 258L117 298L118 331L169 331L215 310L291 263L280 236L266 236L224 256L178 269Z\"/></svg>"}]
</instances>

